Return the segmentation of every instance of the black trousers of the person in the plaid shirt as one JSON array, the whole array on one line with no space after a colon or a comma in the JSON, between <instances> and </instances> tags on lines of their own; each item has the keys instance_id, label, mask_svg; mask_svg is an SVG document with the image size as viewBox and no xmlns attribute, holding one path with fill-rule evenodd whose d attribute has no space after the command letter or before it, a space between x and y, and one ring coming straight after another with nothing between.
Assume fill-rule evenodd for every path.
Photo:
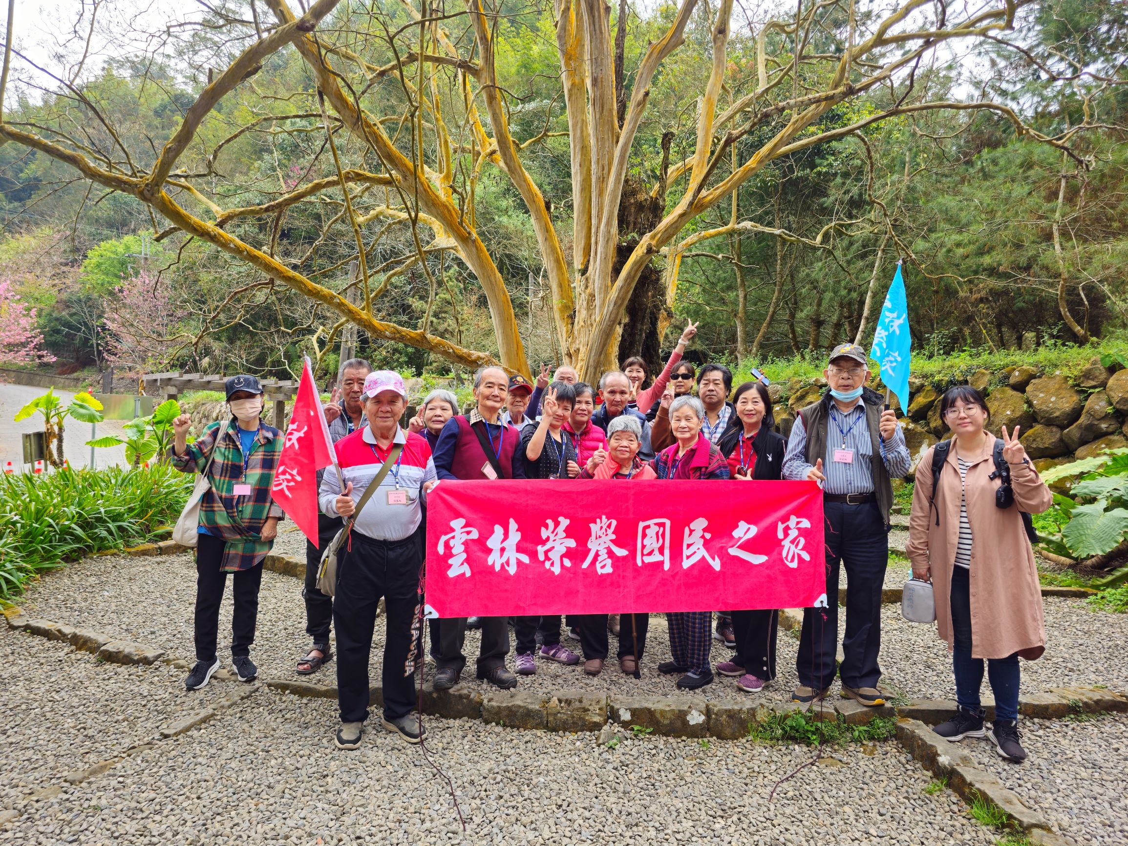
<instances>
[{"instance_id":1,"label":"black trousers of the person in the plaid shirt","mask_svg":"<svg viewBox=\"0 0 1128 846\"><path fill-rule=\"evenodd\" d=\"M196 539L196 660L215 660L215 641L219 637L219 607L223 602L227 573L223 563L222 538L200 535ZM235 608L231 614L231 656L249 655L255 642L258 622L258 587L263 583L263 565L233 572L231 592Z\"/></svg>"}]
</instances>

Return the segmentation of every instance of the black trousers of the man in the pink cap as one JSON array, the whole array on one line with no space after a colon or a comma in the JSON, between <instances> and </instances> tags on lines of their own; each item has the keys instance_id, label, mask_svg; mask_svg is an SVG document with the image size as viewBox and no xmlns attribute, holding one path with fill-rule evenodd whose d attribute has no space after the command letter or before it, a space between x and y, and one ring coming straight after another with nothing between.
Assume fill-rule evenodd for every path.
<instances>
[{"instance_id":1,"label":"black trousers of the man in the pink cap","mask_svg":"<svg viewBox=\"0 0 1128 846\"><path fill-rule=\"evenodd\" d=\"M342 553L333 600L341 722L368 719L368 663L381 597L387 619L381 668L384 717L396 720L415 706L415 676L405 676L404 664L412 647L412 620L418 602L423 562L420 532L386 541L353 530Z\"/></svg>"}]
</instances>

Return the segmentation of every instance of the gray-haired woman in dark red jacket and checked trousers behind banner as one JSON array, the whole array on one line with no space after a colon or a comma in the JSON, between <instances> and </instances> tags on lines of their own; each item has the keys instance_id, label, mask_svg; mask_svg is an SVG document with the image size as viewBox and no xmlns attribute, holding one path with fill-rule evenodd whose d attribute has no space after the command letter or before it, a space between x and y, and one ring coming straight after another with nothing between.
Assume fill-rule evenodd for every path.
<instances>
[{"instance_id":1,"label":"gray-haired woman in dark red jacket and checked trousers behind banner","mask_svg":"<svg viewBox=\"0 0 1128 846\"><path fill-rule=\"evenodd\" d=\"M670 403L670 431L677 443L659 452L650 467L659 478L726 479L729 462L708 438L702 434L705 406L697 397L680 396ZM684 673L678 687L695 690L713 684L710 647L712 611L671 611L666 615L670 627L672 661L663 661L658 671L663 675Z\"/></svg>"}]
</instances>

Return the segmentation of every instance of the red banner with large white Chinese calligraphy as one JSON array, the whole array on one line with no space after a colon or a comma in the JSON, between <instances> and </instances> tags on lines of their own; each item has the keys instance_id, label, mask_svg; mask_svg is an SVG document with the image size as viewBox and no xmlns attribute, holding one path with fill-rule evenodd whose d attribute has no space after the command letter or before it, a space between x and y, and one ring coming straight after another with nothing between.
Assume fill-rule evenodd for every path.
<instances>
[{"instance_id":1,"label":"red banner with large white Chinese calligraphy","mask_svg":"<svg viewBox=\"0 0 1128 846\"><path fill-rule=\"evenodd\" d=\"M448 479L426 537L439 617L805 608L826 591L813 482Z\"/></svg>"}]
</instances>

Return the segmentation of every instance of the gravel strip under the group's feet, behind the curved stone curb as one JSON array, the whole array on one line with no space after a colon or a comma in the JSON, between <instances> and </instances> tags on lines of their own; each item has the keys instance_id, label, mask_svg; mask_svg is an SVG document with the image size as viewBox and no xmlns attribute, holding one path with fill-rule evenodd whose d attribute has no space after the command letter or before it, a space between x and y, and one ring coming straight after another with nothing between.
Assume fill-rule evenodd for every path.
<instances>
[{"instance_id":1,"label":"gravel strip under the group's feet, behind the curved stone curb","mask_svg":"<svg viewBox=\"0 0 1128 846\"><path fill-rule=\"evenodd\" d=\"M899 571L891 570L897 574ZM904 574L897 575L902 579ZM97 588L91 591L90 585ZM21 605L28 614L49 619L104 631L115 636L130 637L141 643L168 650L176 658L194 656L192 641L192 603L195 590L195 570L191 555L134 558L105 556L87 558L67 570L44 579L25 598ZM96 600L96 601L94 601ZM1040 691L1065 685L1103 684L1113 690L1128 691L1128 662L1123 660L1128 647L1128 615L1092 611L1083 600L1045 600L1049 640L1047 653L1038 661L1023 662L1024 691ZM230 638L230 591L220 613L220 655L228 661ZM840 614L840 617L845 617ZM839 631L845 623L839 620ZM297 678L293 667L303 653L308 638L305 634L305 606L301 601L301 582L291 576L266 572L259 594L258 631L253 659L259 672L267 678ZM882 613L881 666L883 681L896 693L908 697L953 696L951 658L946 645L936 636L935 626L908 623L897 605L887 605ZM384 643L382 624L377 625L372 652L372 679L379 678ZM473 678L473 661L477 655L479 636L468 632L465 653L468 670L464 684L484 687L486 682ZM565 638L565 644L580 652L579 643ZM676 677L660 676L659 661L669 656L669 637L666 620L660 615L651 618L646 653L642 666L642 680L624 676L611 654L603 672L598 677L584 676L580 667L564 667L550 661L537 662L537 673L523 677L522 690L580 689L588 693L613 691L685 696L675 687ZM797 684L795 653L797 641L791 633L781 631L778 640L776 681L761 697L782 702L790 697ZM714 664L732 655L714 642ZM513 654L509 656L513 666ZM428 666L426 676L433 670ZM310 680L334 684L335 664ZM986 685L985 695L989 693ZM735 687L734 679L717 677L705 689L710 698L740 698L749 696Z\"/></svg>"}]
</instances>

